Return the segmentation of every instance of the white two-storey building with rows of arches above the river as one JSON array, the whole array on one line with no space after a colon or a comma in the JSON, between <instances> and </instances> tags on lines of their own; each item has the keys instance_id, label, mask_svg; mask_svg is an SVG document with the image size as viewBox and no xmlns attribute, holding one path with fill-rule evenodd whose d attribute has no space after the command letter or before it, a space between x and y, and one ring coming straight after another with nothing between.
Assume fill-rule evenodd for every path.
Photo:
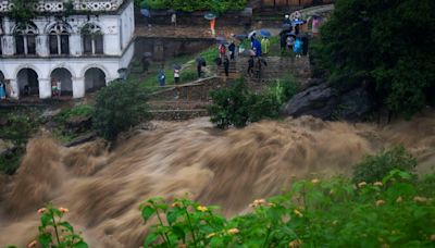
<instances>
[{"instance_id":1,"label":"white two-storey building with rows of arches above the river","mask_svg":"<svg viewBox=\"0 0 435 248\"><path fill-rule=\"evenodd\" d=\"M82 98L119 78L133 58L133 0L38 0L27 24L11 18L11 8L13 0L0 0L0 80L13 98L50 98L54 82Z\"/></svg>"}]
</instances>

